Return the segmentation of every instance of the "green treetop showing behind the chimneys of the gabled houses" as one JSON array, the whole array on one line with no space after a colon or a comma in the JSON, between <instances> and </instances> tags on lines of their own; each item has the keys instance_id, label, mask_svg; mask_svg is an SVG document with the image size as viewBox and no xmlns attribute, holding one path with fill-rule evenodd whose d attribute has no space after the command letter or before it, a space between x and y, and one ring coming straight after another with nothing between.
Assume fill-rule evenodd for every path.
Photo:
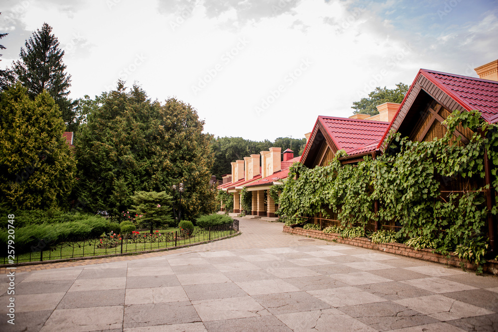
<instances>
[{"instance_id":1,"label":"green treetop showing behind the chimneys of the gabled houses","mask_svg":"<svg viewBox=\"0 0 498 332\"><path fill-rule=\"evenodd\" d=\"M396 89L387 89L386 87L376 87L369 94L369 98L362 98L359 102L354 102L351 107L355 114L378 114L377 106L383 103L401 103L408 92L408 85L403 83L396 84Z\"/></svg>"}]
</instances>

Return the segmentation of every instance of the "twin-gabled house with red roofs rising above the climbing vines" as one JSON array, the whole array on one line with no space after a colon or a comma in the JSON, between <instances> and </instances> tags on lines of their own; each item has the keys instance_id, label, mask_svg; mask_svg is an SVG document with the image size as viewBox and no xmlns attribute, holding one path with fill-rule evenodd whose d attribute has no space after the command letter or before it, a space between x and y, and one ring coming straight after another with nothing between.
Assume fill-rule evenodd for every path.
<instances>
[{"instance_id":1,"label":"twin-gabled house with red roofs rising above the climbing vines","mask_svg":"<svg viewBox=\"0 0 498 332\"><path fill-rule=\"evenodd\" d=\"M431 141L446 134L443 121L452 111L481 112L489 123L498 122L498 60L475 69L479 78L420 69L401 104L385 103L377 107L378 117L368 115L340 118L319 116L308 139L301 163L308 168L326 165L339 150L347 156L341 163L355 163L367 155L375 158L389 146L389 133L401 133L412 141ZM459 144L472 138L468 128L458 126L453 132ZM485 157L485 179L474 179L476 187L492 182L491 161ZM444 183L452 192L464 190L463 178L455 177ZM486 192L488 207L495 199L493 186ZM315 218L321 219L321 216ZM488 214L490 247L496 252L497 221ZM377 228L377 225L375 225Z\"/></svg>"}]
</instances>

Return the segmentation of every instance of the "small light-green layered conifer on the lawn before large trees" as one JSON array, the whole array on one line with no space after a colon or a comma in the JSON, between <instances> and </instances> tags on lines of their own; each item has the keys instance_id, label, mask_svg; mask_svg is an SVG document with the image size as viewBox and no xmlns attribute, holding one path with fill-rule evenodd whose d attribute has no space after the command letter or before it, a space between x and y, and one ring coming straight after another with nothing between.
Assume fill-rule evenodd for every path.
<instances>
[{"instance_id":1,"label":"small light-green layered conifer on the lawn before large trees","mask_svg":"<svg viewBox=\"0 0 498 332\"><path fill-rule=\"evenodd\" d=\"M171 196L166 192L137 191L131 196L133 204L132 213L136 214L135 220L139 225L150 229L167 225L173 221L171 218Z\"/></svg>"}]
</instances>

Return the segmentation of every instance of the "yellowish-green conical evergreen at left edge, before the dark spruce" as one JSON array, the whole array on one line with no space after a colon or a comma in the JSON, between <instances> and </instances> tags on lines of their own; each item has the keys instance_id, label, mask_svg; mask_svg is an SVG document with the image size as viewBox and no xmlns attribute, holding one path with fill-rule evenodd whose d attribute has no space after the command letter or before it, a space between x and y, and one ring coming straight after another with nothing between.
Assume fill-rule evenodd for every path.
<instances>
[{"instance_id":1,"label":"yellowish-green conical evergreen at left edge, before the dark spruce","mask_svg":"<svg viewBox=\"0 0 498 332\"><path fill-rule=\"evenodd\" d=\"M0 94L0 197L11 209L65 208L76 162L47 92L31 100L20 83Z\"/></svg>"}]
</instances>

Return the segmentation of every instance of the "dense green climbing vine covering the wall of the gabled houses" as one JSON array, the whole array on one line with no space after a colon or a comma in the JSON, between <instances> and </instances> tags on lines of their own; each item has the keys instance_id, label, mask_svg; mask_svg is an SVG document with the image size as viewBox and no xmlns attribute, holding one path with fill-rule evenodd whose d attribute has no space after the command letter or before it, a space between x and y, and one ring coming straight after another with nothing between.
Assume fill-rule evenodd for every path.
<instances>
[{"instance_id":1,"label":"dense green climbing vine covering the wall of the gabled houses","mask_svg":"<svg viewBox=\"0 0 498 332\"><path fill-rule=\"evenodd\" d=\"M390 145L382 156L365 157L356 166L341 165L341 151L328 166L293 165L278 214L292 219L317 213L326 216L323 207L328 206L344 227L363 229L369 221L389 222L400 225L396 236L412 238L408 244L416 248L430 247L445 254L463 245L481 252L484 242L473 239L486 236L486 188L472 184L484 178L485 150L496 176L498 126L483 122L478 111L454 111L444 124L448 134L440 139L412 142L396 134L387 139ZM452 134L459 125L475 132L469 143L461 144ZM464 191L441 192L459 179L469 179ZM498 180L494 181L496 187ZM375 200L377 215L373 214ZM497 207L492 213L497 213ZM351 232L346 228L343 234L353 236Z\"/></svg>"}]
</instances>

